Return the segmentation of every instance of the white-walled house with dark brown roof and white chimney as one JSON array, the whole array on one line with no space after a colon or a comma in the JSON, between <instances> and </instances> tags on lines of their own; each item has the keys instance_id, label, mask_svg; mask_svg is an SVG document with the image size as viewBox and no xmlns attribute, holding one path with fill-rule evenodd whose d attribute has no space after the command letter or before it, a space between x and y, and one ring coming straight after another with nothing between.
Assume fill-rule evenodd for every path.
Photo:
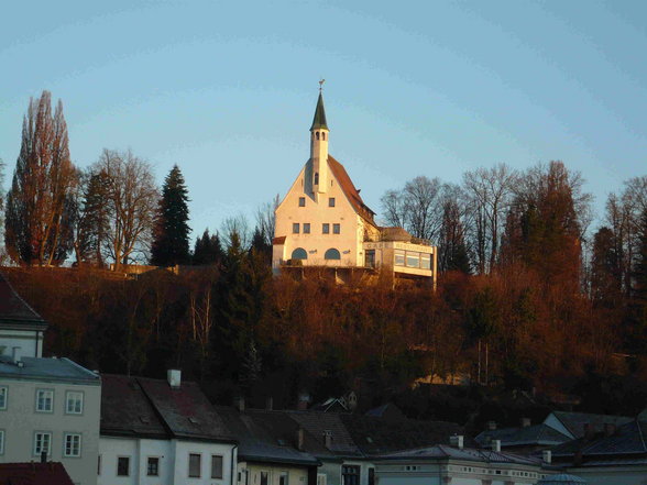
<instances>
[{"instance_id":1,"label":"white-walled house with dark brown roof and white chimney","mask_svg":"<svg viewBox=\"0 0 647 485\"><path fill-rule=\"evenodd\" d=\"M101 377L99 485L234 483L237 441L197 384Z\"/></svg>"}]
</instances>

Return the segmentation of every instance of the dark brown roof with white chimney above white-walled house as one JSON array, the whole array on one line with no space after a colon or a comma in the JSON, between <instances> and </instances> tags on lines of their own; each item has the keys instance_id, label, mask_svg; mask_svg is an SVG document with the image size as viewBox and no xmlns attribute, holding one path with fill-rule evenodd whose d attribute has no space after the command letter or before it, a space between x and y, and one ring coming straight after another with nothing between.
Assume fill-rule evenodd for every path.
<instances>
[{"instance_id":1,"label":"dark brown roof with white chimney above white-walled house","mask_svg":"<svg viewBox=\"0 0 647 485\"><path fill-rule=\"evenodd\" d=\"M234 442L224 419L195 383L103 374L101 433Z\"/></svg>"}]
</instances>

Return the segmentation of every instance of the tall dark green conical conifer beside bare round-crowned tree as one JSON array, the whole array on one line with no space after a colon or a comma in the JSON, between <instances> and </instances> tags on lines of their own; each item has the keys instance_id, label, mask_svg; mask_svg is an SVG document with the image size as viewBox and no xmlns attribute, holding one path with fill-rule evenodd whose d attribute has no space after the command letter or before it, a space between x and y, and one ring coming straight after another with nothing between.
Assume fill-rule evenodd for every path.
<instances>
[{"instance_id":1,"label":"tall dark green conical conifer beside bare round-crowned tree","mask_svg":"<svg viewBox=\"0 0 647 485\"><path fill-rule=\"evenodd\" d=\"M162 187L160 212L151 263L158 266L185 264L189 260L188 190L179 167L174 165Z\"/></svg>"}]
</instances>

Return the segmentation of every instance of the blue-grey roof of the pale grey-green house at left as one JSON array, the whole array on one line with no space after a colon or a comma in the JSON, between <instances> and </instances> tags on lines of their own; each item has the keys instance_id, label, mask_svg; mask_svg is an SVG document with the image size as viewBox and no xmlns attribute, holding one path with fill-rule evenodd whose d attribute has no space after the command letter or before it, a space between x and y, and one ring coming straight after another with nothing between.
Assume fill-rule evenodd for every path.
<instances>
[{"instance_id":1,"label":"blue-grey roof of the pale grey-green house at left","mask_svg":"<svg viewBox=\"0 0 647 485\"><path fill-rule=\"evenodd\" d=\"M98 374L81 367L69 359L21 357L22 366L8 355L0 356L0 375L21 381L46 381L99 385Z\"/></svg>"}]
</instances>

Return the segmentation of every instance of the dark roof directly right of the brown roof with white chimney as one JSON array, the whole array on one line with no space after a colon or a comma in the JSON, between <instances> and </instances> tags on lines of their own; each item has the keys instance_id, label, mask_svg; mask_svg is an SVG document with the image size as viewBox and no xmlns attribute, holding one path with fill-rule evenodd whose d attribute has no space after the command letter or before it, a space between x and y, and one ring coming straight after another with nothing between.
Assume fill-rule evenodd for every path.
<instances>
[{"instance_id":1,"label":"dark roof directly right of the brown roof with white chimney","mask_svg":"<svg viewBox=\"0 0 647 485\"><path fill-rule=\"evenodd\" d=\"M310 453L296 448L298 426L281 412L264 412L217 406L228 428L237 437L241 460L285 463L301 466L318 465Z\"/></svg>"}]
</instances>

